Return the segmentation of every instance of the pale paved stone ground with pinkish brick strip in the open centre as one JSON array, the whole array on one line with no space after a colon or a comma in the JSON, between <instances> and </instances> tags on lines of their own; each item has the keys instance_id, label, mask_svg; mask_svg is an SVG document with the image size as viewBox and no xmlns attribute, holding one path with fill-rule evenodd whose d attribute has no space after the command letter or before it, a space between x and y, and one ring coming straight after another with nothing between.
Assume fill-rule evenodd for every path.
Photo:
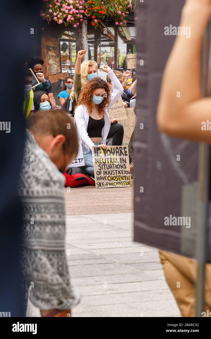
<instances>
[{"instance_id":1,"label":"pale paved stone ground with pinkish brick strip in the open centre","mask_svg":"<svg viewBox=\"0 0 211 339\"><path fill-rule=\"evenodd\" d=\"M73 317L180 316L158 250L132 241L132 192L89 186L65 192L67 261L82 293ZM39 311L29 303L27 315Z\"/></svg>"}]
</instances>

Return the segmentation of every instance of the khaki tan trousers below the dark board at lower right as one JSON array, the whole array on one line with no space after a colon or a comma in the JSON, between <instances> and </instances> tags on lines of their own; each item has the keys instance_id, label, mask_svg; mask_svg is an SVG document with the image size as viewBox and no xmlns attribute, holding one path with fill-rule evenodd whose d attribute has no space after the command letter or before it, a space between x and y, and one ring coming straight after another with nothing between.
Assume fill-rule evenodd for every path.
<instances>
[{"instance_id":1,"label":"khaki tan trousers below the dark board at lower right","mask_svg":"<svg viewBox=\"0 0 211 339\"><path fill-rule=\"evenodd\" d=\"M195 317L196 261L162 250L159 250L159 254L166 281L182 317ZM211 264L206 264L204 311L206 314L211 312ZM211 313L206 316L211 316Z\"/></svg>"}]
</instances>

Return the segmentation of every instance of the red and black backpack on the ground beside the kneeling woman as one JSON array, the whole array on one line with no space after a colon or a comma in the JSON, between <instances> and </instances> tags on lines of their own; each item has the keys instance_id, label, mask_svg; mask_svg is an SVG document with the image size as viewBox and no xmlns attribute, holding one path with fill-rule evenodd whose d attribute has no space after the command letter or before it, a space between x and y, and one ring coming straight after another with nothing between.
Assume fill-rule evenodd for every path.
<instances>
[{"instance_id":1,"label":"red and black backpack on the ground beside the kneeling woman","mask_svg":"<svg viewBox=\"0 0 211 339\"><path fill-rule=\"evenodd\" d=\"M95 181L81 167L67 168L64 176L66 178L65 187L95 186Z\"/></svg>"}]
</instances>

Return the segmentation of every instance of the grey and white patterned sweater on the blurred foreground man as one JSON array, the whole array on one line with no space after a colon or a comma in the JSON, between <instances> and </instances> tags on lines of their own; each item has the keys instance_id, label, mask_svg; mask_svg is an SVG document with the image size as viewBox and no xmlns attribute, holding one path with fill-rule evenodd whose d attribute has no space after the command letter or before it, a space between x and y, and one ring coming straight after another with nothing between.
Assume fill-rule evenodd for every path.
<instances>
[{"instance_id":1,"label":"grey and white patterned sweater on the blurred foreground man","mask_svg":"<svg viewBox=\"0 0 211 339\"><path fill-rule=\"evenodd\" d=\"M26 130L18 193L23 204L25 294L41 310L66 310L80 300L65 257L64 176Z\"/></svg>"}]
</instances>

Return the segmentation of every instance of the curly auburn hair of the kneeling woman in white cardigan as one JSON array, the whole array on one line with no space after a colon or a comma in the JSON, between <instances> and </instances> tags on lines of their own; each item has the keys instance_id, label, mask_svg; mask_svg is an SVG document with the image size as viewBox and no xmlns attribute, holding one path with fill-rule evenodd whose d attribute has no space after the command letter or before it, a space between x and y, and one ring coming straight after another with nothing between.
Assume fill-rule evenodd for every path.
<instances>
[{"instance_id":1,"label":"curly auburn hair of the kneeling woman in white cardigan","mask_svg":"<svg viewBox=\"0 0 211 339\"><path fill-rule=\"evenodd\" d=\"M99 116L104 116L104 111L107 106L110 104L110 91L109 87L106 81L101 79L100 77L94 78L87 82L87 84L81 89L80 95L77 100L76 107L79 105L84 105L88 108L89 115L91 115L92 112L92 98L93 98L93 91L95 91L97 88L104 88L105 89L105 95L103 101L97 105L97 112ZM76 109L75 107L75 109Z\"/></svg>"}]
</instances>

